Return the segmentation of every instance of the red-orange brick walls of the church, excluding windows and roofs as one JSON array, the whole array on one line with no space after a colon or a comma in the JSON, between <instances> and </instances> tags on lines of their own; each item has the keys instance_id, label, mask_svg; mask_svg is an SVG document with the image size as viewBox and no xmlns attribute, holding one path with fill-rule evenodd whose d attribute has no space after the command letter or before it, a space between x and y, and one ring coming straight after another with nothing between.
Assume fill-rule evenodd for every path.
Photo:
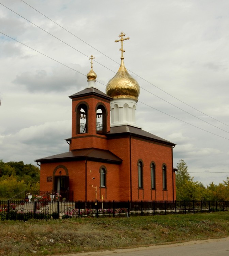
<instances>
[{"instance_id":1,"label":"red-orange brick walls of the church, excluding windows and roofs","mask_svg":"<svg viewBox=\"0 0 229 256\"><path fill-rule=\"evenodd\" d=\"M76 134L75 108L80 102L87 102L88 133ZM72 143L70 150L81 148L101 148L109 150L120 157L121 165L93 161L69 161L58 163L42 163L40 189L54 189L55 176L69 176L70 190L74 190L74 200L94 200L95 187L97 199L104 200L173 200L175 199L175 173L172 166L172 146L152 142L132 136L110 138L96 132L96 105L102 102L108 111L107 131L110 130L110 104L108 100L95 96L85 96L72 100ZM138 160L143 162L143 188L138 188ZM150 163L155 163L156 187L151 189ZM167 189L163 190L162 166L167 167ZM60 167L56 173L54 170ZM106 187L100 187L100 168L107 170ZM67 170L67 171L66 171ZM52 182L47 182L47 177ZM94 180L92 178L95 178ZM92 185L92 186L91 186ZM174 189L173 189L174 188ZM131 198L132 189L132 198Z\"/></svg>"}]
</instances>

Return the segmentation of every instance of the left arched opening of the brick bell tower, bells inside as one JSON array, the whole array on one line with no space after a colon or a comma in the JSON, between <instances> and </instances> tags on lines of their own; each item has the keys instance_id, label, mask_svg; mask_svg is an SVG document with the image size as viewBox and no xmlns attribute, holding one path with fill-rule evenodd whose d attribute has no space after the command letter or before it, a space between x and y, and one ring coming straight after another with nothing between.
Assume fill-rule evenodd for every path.
<instances>
[{"instance_id":1,"label":"left arched opening of the brick bell tower, bells inside","mask_svg":"<svg viewBox=\"0 0 229 256\"><path fill-rule=\"evenodd\" d=\"M88 133L88 106L85 103L76 108L76 133Z\"/></svg>"}]
</instances>

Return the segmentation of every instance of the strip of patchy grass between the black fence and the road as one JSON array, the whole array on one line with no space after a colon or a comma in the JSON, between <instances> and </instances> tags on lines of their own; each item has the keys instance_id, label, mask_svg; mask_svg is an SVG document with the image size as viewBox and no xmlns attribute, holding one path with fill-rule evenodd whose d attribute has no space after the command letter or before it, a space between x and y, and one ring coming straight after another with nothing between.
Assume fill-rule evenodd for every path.
<instances>
[{"instance_id":1,"label":"strip of patchy grass between the black fence and the road","mask_svg":"<svg viewBox=\"0 0 229 256\"><path fill-rule=\"evenodd\" d=\"M0 255L109 250L229 236L229 212L0 223Z\"/></svg>"}]
</instances>

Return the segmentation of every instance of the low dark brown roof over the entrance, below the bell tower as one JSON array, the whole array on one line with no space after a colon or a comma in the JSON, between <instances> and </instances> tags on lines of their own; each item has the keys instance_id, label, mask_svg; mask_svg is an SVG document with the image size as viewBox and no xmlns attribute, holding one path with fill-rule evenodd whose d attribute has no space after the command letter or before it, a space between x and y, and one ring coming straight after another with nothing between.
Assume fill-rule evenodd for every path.
<instances>
[{"instance_id":1,"label":"low dark brown roof over the entrance, below the bell tower","mask_svg":"<svg viewBox=\"0 0 229 256\"><path fill-rule=\"evenodd\" d=\"M82 150L73 150L62 154L48 156L35 160L35 162L58 162L58 161L76 161L76 160L92 160L97 162L108 162L120 164L122 159L108 150L97 148L87 148Z\"/></svg>"}]
</instances>

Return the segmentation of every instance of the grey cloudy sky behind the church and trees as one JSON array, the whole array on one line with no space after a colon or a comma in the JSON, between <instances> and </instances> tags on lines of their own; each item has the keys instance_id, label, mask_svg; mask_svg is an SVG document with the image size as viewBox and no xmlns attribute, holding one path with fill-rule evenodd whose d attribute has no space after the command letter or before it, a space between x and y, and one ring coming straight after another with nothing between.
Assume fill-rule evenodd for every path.
<instances>
[{"instance_id":1,"label":"grey cloudy sky behind the church and trees","mask_svg":"<svg viewBox=\"0 0 229 256\"><path fill-rule=\"evenodd\" d=\"M0 0L0 159L35 164L68 151L68 96L87 87L91 55L105 92L123 31L125 66L141 87L136 123L177 144L174 167L183 159L194 180L223 182L228 10L228 0Z\"/></svg>"}]
</instances>

